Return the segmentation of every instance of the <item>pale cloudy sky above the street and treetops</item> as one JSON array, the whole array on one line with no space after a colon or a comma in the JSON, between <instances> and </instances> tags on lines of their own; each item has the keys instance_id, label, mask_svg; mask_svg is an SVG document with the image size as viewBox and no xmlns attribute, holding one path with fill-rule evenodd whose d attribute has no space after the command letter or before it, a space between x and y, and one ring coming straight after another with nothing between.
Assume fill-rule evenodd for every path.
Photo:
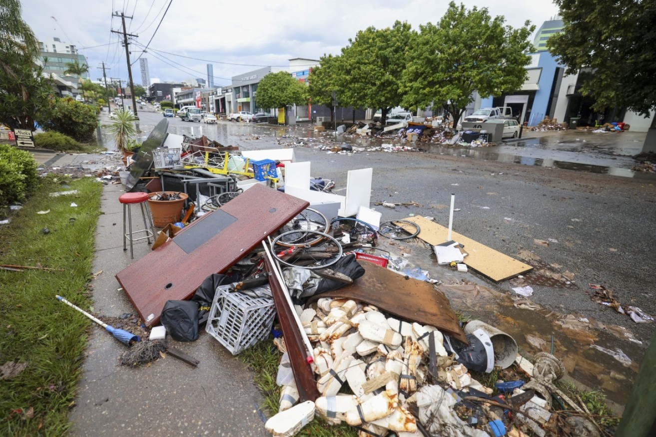
<instances>
[{"instance_id":1,"label":"pale cloudy sky above the street and treetops","mask_svg":"<svg viewBox=\"0 0 656 437\"><path fill-rule=\"evenodd\" d=\"M505 16L506 23L514 27L531 20L539 28L558 13L551 0L463 3L468 8L487 7L491 15ZM207 79L205 66L211 61L215 85L226 85L232 76L260 66L286 67L290 58L319 59L323 54L337 54L358 30L369 26L386 28L401 20L418 28L419 24L438 22L448 2L173 0L169 7L169 0L22 0L22 4L23 18L37 38L59 37L77 45L87 56L94 79L102 76L96 69L101 62L111 68L108 77L127 79L125 48L119 35L110 33L110 29L121 29L121 18L112 18L112 11L124 11L134 17L126 20L128 33L138 35L130 45L132 62L152 38L148 52L142 54L148 59L151 78ZM133 76L134 82L140 83L138 62L133 66Z\"/></svg>"}]
</instances>

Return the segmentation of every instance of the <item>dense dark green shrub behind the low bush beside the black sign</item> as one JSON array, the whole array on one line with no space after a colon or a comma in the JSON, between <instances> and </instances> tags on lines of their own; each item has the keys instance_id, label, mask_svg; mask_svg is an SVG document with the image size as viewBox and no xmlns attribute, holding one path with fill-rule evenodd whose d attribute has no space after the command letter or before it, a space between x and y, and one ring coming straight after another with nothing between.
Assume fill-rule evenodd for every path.
<instances>
[{"instance_id":1,"label":"dense dark green shrub behind the low bush beside the black sign","mask_svg":"<svg viewBox=\"0 0 656 437\"><path fill-rule=\"evenodd\" d=\"M93 139L98 125L94 107L75 102L72 98L56 98L51 102L39 113L39 124L43 130L54 130L80 142Z\"/></svg>"}]
</instances>

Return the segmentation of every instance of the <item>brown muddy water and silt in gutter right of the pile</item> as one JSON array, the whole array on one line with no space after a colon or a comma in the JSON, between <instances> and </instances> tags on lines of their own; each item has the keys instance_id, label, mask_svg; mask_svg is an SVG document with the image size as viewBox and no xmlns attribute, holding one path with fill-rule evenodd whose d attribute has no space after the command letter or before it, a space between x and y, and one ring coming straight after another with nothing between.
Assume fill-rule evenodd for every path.
<instances>
[{"instance_id":1,"label":"brown muddy water and silt in gutter right of the pile","mask_svg":"<svg viewBox=\"0 0 656 437\"><path fill-rule=\"evenodd\" d=\"M531 306L530 301L522 296L519 296L522 299L514 300L510 294L487 288L476 275L458 273L438 265L432 249L420 240L392 242L390 245L389 240L380 238L379 242L380 248L405 257L409 263L427 270L431 278L441 280L443 285L438 288L447 295L455 310L466 315L475 314L475 318L512 335L520 352L551 352L553 336L553 354L564 362L567 375L593 390L603 390L609 400L617 404L626 404L629 387L632 387L638 363L644 356L644 348L611 332L611 329L621 332L620 329L613 326L600 329L594 320L583 322L583 325L589 326L583 326L581 330L564 328L557 321L565 320L567 314L550 312L537 306L534 310L522 308L523 302L529 303L525 306ZM448 285L462 283L463 279L471 285ZM501 282L499 286L501 289L510 288L508 282ZM611 351L621 349L633 361L624 366L608 354L590 347L592 344Z\"/></svg>"}]
</instances>

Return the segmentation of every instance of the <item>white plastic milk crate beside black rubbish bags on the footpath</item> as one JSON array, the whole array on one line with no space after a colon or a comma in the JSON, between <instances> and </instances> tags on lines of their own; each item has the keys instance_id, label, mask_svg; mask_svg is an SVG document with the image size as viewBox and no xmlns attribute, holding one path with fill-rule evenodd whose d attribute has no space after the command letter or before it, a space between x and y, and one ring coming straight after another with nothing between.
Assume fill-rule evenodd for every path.
<instances>
[{"instance_id":1,"label":"white plastic milk crate beside black rubbish bags on the footpath","mask_svg":"<svg viewBox=\"0 0 656 437\"><path fill-rule=\"evenodd\" d=\"M228 290L230 285L216 288L205 331L236 355L269 335L276 307L273 299Z\"/></svg>"}]
</instances>

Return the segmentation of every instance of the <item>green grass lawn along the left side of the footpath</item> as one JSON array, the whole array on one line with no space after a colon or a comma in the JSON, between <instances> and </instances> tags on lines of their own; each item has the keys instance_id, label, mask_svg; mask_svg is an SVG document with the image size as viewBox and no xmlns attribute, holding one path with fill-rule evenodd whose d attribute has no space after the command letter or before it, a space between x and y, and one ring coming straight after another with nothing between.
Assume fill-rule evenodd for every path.
<instances>
[{"instance_id":1,"label":"green grass lawn along the left side of the footpath","mask_svg":"<svg viewBox=\"0 0 656 437\"><path fill-rule=\"evenodd\" d=\"M78 193L49 196L65 190ZM45 178L9 225L0 227L0 264L56 269L0 270L0 365L27 364L12 379L0 379L0 435L60 436L68 430L91 322L54 296L89 309L101 191L92 178Z\"/></svg>"}]
</instances>

